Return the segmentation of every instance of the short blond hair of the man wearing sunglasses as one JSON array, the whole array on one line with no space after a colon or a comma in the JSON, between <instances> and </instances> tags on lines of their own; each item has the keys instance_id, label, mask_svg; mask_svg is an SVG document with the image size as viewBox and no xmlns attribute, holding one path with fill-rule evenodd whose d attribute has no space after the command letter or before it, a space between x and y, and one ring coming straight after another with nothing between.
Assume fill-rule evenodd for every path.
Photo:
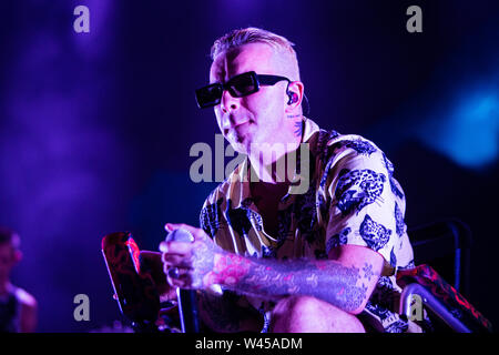
<instances>
[{"instance_id":1,"label":"short blond hair of the man wearing sunglasses","mask_svg":"<svg viewBox=\"0 0 499 355\"><path fill-rule=\"evenodd\" d=\"M285 54L289 59L292 71L296 75L292 80L299 80L298 59L293 48L295 43L283 36L256 27L232 30L218 38L212 45L211 58L215 60L221 53L251 43L265 43L271 45L276 52Z\"/></svg>"}]
</instances>

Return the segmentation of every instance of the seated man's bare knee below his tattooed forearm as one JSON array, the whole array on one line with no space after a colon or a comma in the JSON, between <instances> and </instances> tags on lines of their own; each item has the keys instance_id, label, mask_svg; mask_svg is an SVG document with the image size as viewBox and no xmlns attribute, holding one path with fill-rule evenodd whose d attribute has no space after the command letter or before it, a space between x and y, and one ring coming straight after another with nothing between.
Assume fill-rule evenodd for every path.
<instances>
[{"instance_id":1,"label":"seated man's bare knee below his tattooed forearm","mask_svg":"<svg viewBox=\"0 0 499 355\"><path fill-rule=\"evenodd\" d=\"M308 296L281 300L272 313L273 333L365 333L360 321L332 304Z\"/></svg>"}]
</instances>

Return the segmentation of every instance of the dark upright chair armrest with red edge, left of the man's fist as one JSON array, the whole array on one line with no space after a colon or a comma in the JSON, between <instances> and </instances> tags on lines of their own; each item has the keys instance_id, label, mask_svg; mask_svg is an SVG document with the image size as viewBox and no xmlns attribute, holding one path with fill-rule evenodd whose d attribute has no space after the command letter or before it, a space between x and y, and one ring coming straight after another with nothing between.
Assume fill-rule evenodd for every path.
<instances>
[{"instance_id":1,"label":"dark upright chair armrest with red edge, left of the man's fist","mask_svg":"<svg viewBox=\"0 0 499 355\"><path fill-rule=\"evenodd\" d=\"M140 274L140 250L130 232L102 239L102 254L121 313L139 332L154 332L160 295L151 277Z\"/></svg>"}]
</instances>

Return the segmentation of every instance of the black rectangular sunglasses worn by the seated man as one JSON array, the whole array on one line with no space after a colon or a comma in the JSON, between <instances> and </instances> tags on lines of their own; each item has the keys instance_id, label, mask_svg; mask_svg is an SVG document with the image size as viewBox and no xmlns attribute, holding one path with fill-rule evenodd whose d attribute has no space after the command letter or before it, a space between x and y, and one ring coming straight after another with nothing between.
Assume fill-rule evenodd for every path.
<instances>
[{"instance_id":1,"label":"black rectangular sunglasses worn by the seated man","mask_svg":"<svg viewBox=\"0 0 499 355\"><path fill-rule=\"evenodd\" d=\"M224 90L227 90L233 98L243 98L259 90L259 85L275 85L277 82L289 79L277 75L259 75L254 71L238 74L228 80L225 84L214 83L196 90L196 102L200 109L216 106Z\"/></svg>"}]
</instances>

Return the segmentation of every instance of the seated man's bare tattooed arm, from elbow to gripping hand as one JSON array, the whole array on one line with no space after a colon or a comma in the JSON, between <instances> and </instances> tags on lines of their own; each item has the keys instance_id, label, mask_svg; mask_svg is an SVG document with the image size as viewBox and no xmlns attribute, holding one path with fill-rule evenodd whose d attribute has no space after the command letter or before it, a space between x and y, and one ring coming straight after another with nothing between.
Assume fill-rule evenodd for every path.
<instances>
[{"instance_id":1,"label":"seated man's bare tattooed arm, from elbow to gripping hand","mask_svg":"<svg viewBox=\"0 0 499 355\"><path fill-rule=\"evenodd\" d=\"M343 245L336 260L245 257L223 251L203 230L189 225L176 227L189 230L195 242L169 242L160 247L165 267L183 268L180 277L169 282L184 288L218 284L236 293L268 300L308 295L358 314L376 286L384 262L380 254L357 245Z\"/></svg>"}]
</instances>

